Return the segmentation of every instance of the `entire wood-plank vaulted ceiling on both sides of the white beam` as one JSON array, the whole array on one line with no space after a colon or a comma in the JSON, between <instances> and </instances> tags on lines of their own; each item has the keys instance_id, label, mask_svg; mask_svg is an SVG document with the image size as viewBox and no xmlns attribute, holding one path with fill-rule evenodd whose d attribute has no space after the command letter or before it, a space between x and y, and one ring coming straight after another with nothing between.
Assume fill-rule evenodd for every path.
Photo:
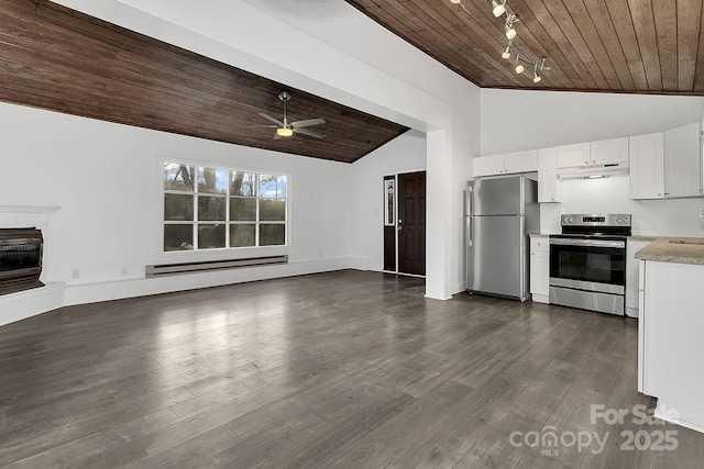
<instances>
[{"instance_id":1,"label":"entire wood-plank vaulted ceiling on both sides of the white beam","mask_svg":"<svg viewBox=\"0 0 704 469\"><path fill-rule=\"evenodd\" d=\"M704 94L701 0L507 0L508 59L490 0L345 1L480 87ZM0 0L0 82L4 102L344 163L408 130L48 0ZM323 138L273 138L283 90Z\"/></svg>"}]
</instances>

